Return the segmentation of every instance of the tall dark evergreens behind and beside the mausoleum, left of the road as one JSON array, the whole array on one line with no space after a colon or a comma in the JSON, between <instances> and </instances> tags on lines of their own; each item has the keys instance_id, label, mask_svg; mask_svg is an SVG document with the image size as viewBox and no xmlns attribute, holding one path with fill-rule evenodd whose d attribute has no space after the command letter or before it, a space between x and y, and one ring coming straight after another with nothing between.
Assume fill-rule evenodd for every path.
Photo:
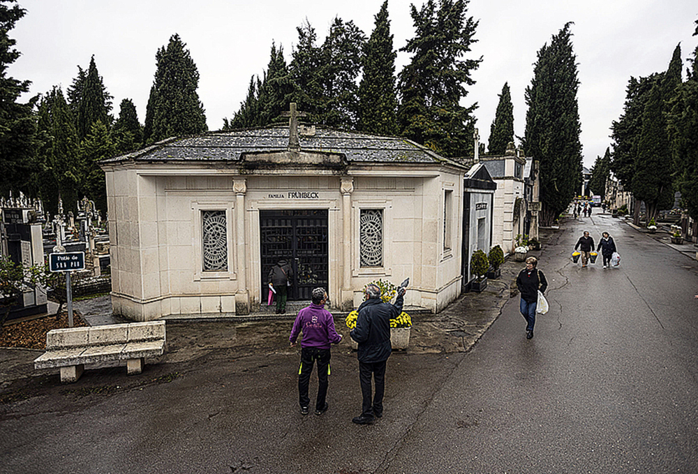
<instances>
[{"instance_id":1,"label":"tall dark evergreens behind and beside the mausoleum, left of the road","mask_svg":"<svg viewBox=\"0 0 698 474\"><path fill-rule=\"evenodd\" d=\"M20 54L8 31L25 11L14 3L0 0L1 68ZM283 46L272 44L266 71L251 77L245 100L232 119L224 120L223 129L274 124L283 120L288 103L295 102L315 124L404 136L450 158L473 156L477 103L461 104L483 59L469 57L477 41L477 21L467 15L468 0L426 0L420 8L410 6L415 35L400 49L410 60L399 73L387 5L385 1L375 15L368 37L353 22L336 17L322 44L309 22L298 27L288 64ZM519 141L540 162L543 224L556 219L581 184L579 80L570 26L540 49L533 80L524 91L526 133ZM65 94L53 87L20 104L17 98L29 82L4 76L0 80L0 103L3 110L12 108L5 115L14 124L0 129L0 170L12 177L3 180L0 193L38 196L50 212L56 212L59 196L66 209L75 209L76 200L87 196L105 211L99 161L172 136L207 131L197 94L198 70L177 34L156 52L143 126L128 98L114 119L112 96L94 57L86 69L78 67ZM503 154L514 142L513 120L505 82L491 124L489 153Z\"/></svg>"}]
</instances>

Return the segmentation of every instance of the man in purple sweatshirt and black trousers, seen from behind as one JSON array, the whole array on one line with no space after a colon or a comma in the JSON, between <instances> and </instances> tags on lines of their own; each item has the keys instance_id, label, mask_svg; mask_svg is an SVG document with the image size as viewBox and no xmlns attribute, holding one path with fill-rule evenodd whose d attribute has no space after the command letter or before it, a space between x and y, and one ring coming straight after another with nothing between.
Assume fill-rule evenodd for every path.
<instances>
[{"instance_id":1,"label":"man in purple sweatshirt and black trousers, seen from behind","mask_svg":"<svg viewBox=\"0 0 698 474\"><path fill-rule=\"evenodd\" d=\"M291 347L295 347L299 333L303 332L301 366L298 371L298 401L301 405L302 415L309 413L308 385L315 361L318 362L318 398L315 399L315 415L322 415L329 408L327 387L329 385L329 360L332 357L329 345L339 343L342 336L337 334L336 329L334 329L332 313L325 309L327 301L325 289L315 288L310 306L298 311L291 335L288 338Z\"/></svg>"}]
</instances>

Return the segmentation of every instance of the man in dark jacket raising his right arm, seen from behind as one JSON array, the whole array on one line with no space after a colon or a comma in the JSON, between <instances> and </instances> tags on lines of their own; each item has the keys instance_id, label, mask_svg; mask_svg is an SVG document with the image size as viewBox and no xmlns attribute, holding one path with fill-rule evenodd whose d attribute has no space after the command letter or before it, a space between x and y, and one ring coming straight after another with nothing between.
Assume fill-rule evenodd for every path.
<instances>
[{"instance_id":1,"label":"man in dark jacket raising his right arm, seen from behind","mask_svg":"<svg viewBox=\"0 0 698 474\"><path fill-rule=\"evenodd\" d=\"M387 362L392 346L390 346L390 319L396 318L402 312L405 288L398 290L395 304L384 303L380 299L380 288L376 285L366 286L364 295L366 301L359 306L359 317L356 327L349 333L359 347L359 381L363 397L362 413L354 417L352 422L368 424L373 417L383 416L383 392L385 390L385 362ZM371 375L376 381L376 394L371 401Z\"/></svg>"}]
</instances>

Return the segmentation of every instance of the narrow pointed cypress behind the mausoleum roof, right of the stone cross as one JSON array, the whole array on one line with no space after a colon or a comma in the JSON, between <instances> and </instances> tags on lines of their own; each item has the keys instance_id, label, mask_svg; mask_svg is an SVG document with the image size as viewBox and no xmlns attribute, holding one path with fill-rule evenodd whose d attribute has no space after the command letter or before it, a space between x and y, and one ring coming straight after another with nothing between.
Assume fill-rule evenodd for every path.
<instances>
[{"instance_id":1,"label":"narrow pointed cypress behind the mausoleum roof, right of the stone cross","mask_svg":"<svg viewBox=\"0 0 698 474\"><path fill-rule=\"evenodd\" d=\"M359 84L359 131L397 135L397 92L393 35L385 0L376 15L371 38L364 48L364 75Z\"/></svg>"}]
</instances>

